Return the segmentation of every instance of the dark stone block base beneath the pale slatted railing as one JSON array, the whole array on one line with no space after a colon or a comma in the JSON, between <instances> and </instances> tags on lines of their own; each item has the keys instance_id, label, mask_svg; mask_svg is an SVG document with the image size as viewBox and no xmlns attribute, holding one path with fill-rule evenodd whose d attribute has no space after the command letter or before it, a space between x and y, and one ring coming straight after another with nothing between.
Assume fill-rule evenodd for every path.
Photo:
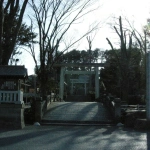
<instances>
[{"instance_id":1,"label":"dark stone block base beneath the pale slatted railing","mask_svg":"<svg viewBox=\"0 0 150 150\"><path fill-rule=\"evenodd\" d=\"M0 128L22 129L24 127L24 105L0 104Z\"/></svg>"}]
</instances>

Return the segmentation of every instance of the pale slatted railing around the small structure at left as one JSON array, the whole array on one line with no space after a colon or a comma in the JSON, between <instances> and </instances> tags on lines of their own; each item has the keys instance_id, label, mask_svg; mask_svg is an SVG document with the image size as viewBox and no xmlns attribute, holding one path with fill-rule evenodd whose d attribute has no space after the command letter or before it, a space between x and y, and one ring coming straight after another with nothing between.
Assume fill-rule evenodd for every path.
<instances>
[{"instance_id":1,"label":"pale slatted railing around the small structure at left","mask_svg":"<svg viewBox=\"0 0 150 150\"><path fill-rule=\"evenodd\" d=\"M24 104L22 91L0 91L0 103Z\"/></svg>"}]
</instances>

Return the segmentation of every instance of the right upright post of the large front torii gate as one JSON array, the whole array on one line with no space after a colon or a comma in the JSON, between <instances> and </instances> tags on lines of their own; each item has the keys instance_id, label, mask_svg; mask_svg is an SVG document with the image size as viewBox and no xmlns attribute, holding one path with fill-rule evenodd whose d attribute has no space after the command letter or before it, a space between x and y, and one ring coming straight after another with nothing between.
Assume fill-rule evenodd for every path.
<instances>
[{"instance_id":1,"label":"right upright post of the large front torii gate","mask_svg":"<svg viewBox=\"0 0 150 150\"><path fill-rule=\"evenodd\" d=\"M99 98L99 75L98 75L98 67L95 67L95 98Z\"/></svg>"}]
</instances>

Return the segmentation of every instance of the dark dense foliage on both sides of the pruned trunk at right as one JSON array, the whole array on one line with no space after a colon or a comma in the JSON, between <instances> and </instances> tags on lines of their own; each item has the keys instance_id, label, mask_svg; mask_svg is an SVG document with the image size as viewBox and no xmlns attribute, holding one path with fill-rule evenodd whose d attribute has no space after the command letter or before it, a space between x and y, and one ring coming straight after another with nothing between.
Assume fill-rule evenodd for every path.
<instances>
[{"instance_id":1,"label":"dark dense foliage on both sides of the pruned trunk at right","mask_svg":"<svg viewBox=\"0 0 150 150\"><path fill-rule=\"evenodd\" d=\"M141 52L137 48L133 48L131 51L127 51L128 55L130 53L129 67L126 70L128 74L129 86L128 86L128 99L130 103L138 103L139 95L145 94L144 86L144 76L143 76L143 66L141 64ZM122 98L122 82L121 82L121 72L119 68L118 59L120 60L121 53L120 49L109 50L104 53L106 62L110 64L105 68L101 69L101 82L104 83L106 91L115 95L116 97Z\"/></svg>"}]
</instances>

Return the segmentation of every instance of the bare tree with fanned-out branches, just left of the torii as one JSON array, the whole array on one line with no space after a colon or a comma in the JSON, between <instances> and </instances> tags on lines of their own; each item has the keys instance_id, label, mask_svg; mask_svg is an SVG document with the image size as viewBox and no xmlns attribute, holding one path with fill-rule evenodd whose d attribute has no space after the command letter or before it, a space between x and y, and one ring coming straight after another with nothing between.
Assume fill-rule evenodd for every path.
<instances>
[{"instance_id":1,"label":"bare tree with fanned-out branches, just left of the torii","mask_svg":"<svg viewBox=\"0 0 150 150\"><path fill-rule=\"evenodd\" d=\"M95 10L91 7L94 2L95 0L31 1L30 6L34 11L34 18L31 17L31 22L38 26L39 63L35 56L34 47L31 46L30 50L36 64L36 73L38 74L42 96L46 94L45 87L50 72L59 56L97 28L98 24L93 25L80 37L73 39L70 37L68 41L65 39L68 38L66 35L72 26L79 24L83 21L85 15ZM89 9L89 7L92 9ZM60 53L58 53L58 48L59 51L61 49Z\"/></svg>"}]
</instances>

